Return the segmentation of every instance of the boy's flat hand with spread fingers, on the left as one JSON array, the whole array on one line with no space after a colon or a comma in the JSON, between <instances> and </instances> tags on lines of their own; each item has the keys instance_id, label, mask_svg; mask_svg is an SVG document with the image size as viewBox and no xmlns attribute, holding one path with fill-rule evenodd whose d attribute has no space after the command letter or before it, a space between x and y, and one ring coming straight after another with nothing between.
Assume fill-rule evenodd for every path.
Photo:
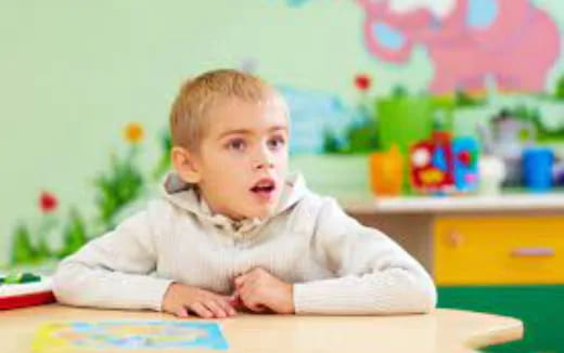
<instances>
[{"instance_id":1,"label":"boy's flat hand with spread fingers, on the left","mask_svg":"<svg viewBox=\"0 0 564 353\"><path fill-rule=\"evenodd\" d=\"M163 311L179 317L194 313L204 318L223 318L235 315L229 299L197 287L174 283L165 293Z\"/></svg>"}]
</instances>

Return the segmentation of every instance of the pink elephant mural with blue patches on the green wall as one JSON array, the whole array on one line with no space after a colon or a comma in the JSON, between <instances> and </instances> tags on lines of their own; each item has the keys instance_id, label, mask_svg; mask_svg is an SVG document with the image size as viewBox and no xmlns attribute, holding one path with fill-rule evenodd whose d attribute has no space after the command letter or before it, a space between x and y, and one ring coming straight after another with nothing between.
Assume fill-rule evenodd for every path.
<instances>
[{"instance_id":1,"label":"pink elephant mural with blue patches on the green wall","mask_svg":"<svg viewBox=\"0 0 564 353\"><path fill-rule=\"evenodd\" d=\"M416 1L412 1L416 2ZM428 2L428 1L427 1ZM479 92L490 77L501 91L538 92L560 54L560 32L529 0L452 0L438 16L428 6L397 11L389 0L357 0L371 55L401 64L426 48L435 75L428 90Z\"/></svg>"}]
</instances>

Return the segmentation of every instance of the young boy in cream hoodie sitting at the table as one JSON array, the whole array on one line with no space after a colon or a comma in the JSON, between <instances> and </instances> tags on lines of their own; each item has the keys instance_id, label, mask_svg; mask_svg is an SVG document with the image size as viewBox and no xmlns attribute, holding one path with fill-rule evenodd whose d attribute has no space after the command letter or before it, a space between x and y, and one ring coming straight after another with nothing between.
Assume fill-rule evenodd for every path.
<instances>
[{"instance_id":1,"label":"young boy in cream hoodie sitting at the table","mask_svg":"<svg viewBox=\"0 0 564 353\"><path fill-rule=\"evenodd\" d=\"M435 286L411 256L287 173L289 120L251 75L188 81L162 199L62 261L59 301L206 318L432 310Z\"/></svg>"}]
</instances>

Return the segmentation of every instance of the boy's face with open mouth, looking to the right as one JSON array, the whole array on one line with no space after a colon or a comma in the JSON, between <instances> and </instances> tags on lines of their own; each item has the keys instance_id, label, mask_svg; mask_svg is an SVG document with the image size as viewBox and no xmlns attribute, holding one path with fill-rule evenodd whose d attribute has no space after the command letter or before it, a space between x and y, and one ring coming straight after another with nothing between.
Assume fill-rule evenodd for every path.
<instances>
[{"instance_id":1,"label":"boy's face with open mouth, looking to the right","mask_svg":"<svg viewBox=\"0 0 564 353\"><path fill-rule=\"evenodd\" d=\"M287 172L285 110L272 99L229 99L208 114L195 158L206 201L214 212L234 220L269 217Z\"/></svg>"}]
</instances>

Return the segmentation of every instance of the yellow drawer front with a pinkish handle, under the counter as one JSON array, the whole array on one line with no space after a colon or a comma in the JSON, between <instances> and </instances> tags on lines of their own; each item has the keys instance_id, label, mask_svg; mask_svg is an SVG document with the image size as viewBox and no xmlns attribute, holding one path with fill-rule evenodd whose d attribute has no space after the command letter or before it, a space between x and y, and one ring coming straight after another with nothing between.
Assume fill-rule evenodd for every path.
<instances>
[{"instance_id":1,"label":"yellow drawer front with a pinkish handle, under the counter","mask_svg":"<svg viewBox=\"0 0 564 353\"><path fill-rule=\"evenodd\" d=\"M564 284L564 217L439 217L437 285Z\"/></svg>"}]
</instances>

